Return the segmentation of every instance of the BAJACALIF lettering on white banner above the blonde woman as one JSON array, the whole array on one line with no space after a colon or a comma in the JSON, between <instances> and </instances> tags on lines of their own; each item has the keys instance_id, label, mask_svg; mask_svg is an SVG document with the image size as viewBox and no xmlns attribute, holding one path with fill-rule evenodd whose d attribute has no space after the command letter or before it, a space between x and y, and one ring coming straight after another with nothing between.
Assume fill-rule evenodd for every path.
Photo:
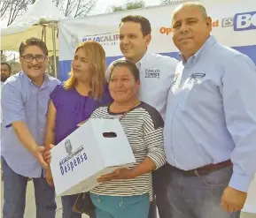
<instances>
[{"instance_id":1,"label":"BAJACALIF lettering on white banner above the blonde woman","mask_svg":"<svg viewBox=\"0 0 256 218\"><path fill-rule=\"evenodd\" d=\"M86 35L82 37L82 41L97 41L101 45L115 46L119 44L119 34L108 33L108 34Z\"/></svg>"}]
</instances>

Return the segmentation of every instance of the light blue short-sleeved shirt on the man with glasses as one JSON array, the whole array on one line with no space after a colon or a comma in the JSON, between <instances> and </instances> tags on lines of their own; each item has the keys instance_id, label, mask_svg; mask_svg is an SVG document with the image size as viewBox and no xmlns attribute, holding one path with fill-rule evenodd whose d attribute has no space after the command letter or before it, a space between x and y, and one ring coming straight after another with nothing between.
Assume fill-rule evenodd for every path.
<instances>
[{"instance_id":1,"label":"light blue short-sleeved shirt on the man with glasses","mask_svg":"<svg viewBox=\"0 0 256 218\"><path fill-rule=\"evenodd\" d=\"M44 146L50 93L58 84L58 79L46 75L43 85L37 87L23 71L20 71L7 79L2 87L2 155L12 170L24 177L41 177L42 168L35 157L20 143L12 123L24 121L36 143Z\"/></svg>"}]
</instances>

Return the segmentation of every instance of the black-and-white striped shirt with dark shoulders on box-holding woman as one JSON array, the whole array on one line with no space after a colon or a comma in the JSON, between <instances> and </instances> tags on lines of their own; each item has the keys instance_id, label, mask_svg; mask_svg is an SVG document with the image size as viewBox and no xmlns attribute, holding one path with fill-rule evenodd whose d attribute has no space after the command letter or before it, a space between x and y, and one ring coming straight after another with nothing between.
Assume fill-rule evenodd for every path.
<instances>
[{"instance_id":1,"label":"black-and-white striped shirt with dark shoulders on box-holding woman","mask_svg":"<svg viewBox=\"0 0 256 218\"><path fill-rule=\"evenodd\" d=\"M112 113L109 107L96 109L92 118L120 118L123 113ZM166 163L163 147L164 122L157 109L141 102L126 114L120 124L128 138L128 142L136 158L131 168L143 162L145 157L151 158L157 169ZM90 192L99 195L133 196L148 193L152 199L151 173L133 179L118 179L99 184Z\"/></svg>"}]
</instances>

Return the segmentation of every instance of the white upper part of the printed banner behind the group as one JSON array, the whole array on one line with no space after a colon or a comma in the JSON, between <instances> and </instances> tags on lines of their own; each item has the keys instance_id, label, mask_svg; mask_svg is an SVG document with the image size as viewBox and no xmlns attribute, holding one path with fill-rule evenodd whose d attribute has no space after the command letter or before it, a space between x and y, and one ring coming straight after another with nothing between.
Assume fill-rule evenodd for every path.
<instances>
[{"instance_id":1,"label":"white upper part of the printed banner behind the group","mask_svg":"<svg viewBox=\"0 0 256 218\"><path fill-rule=\"evenodd\" d=\"M255 0L202 0L213 19L213 35L229 47L256 44ZM77 42L100 42L106 56L121 56L119 49L120 19L129 15L141 15L149 19L152 40L149 49L153 53L175 52L171 39L171 15L177 4L167 4L133 11L102 14L59 22L59 60L71 60Z\"/></svg>"}]
</instances>

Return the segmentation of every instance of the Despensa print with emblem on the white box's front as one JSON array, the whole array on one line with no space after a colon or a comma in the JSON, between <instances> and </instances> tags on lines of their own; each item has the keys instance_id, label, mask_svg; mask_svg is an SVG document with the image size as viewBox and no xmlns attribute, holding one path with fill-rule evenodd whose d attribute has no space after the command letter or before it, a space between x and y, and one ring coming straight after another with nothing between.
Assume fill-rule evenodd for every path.
<instances>
[{"instance_id":1,"label":"Despensa print with emblem on the white box's front","mask_svg":"<svg viewBox=\"0 0 256 218\"><path fill-rule=\"evenodd\" d=\"M87 155L84 152L84 147L78 147L74 152L71 140L66 139L65 148L67 156L59 162L60 173L63 176L70 171L74 171L74 169L80 165L82 162L87 160Z\"/></svg>"}]
</instances>

